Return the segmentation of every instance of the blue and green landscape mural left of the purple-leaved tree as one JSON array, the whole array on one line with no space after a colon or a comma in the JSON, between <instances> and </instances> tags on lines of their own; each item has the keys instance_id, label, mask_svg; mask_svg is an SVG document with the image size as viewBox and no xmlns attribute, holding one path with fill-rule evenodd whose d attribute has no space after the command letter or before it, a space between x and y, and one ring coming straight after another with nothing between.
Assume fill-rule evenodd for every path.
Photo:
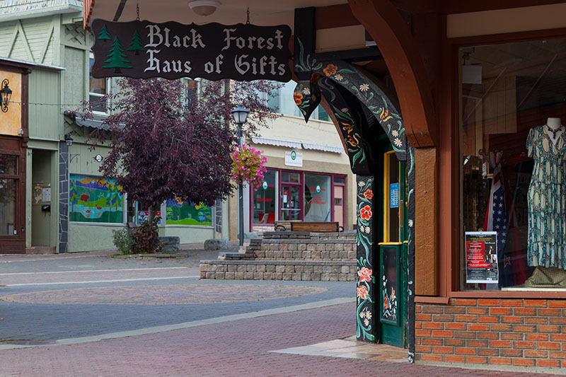
<instances>
[{"instance_id":1,"label":"blue and green landscape mural left of the purple-leaved tree","mask_svg":"<svg viewBox=\"0 0 566 377\"><path fill-rule=\"evenodd\" d=\"M122 187L114 180L71 174L69 221L122 224Z\"/></svg>"}]
</instances>

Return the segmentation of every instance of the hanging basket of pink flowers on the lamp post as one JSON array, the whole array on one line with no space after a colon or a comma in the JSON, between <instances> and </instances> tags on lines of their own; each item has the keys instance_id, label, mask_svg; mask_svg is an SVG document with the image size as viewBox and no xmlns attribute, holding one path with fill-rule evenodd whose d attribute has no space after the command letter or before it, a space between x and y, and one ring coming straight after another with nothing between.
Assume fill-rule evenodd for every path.
<instances>
[{"instance_id":1,"label":"hanging basket of pink flowers on the lamp post","mask_svg":"<svg viewBox=\"0 0 566 377\"><path fill-rule=\"evenodd\" d=\"M263 175L267 171L265 163L267 159L262 156L263 151L258 151L251 146L241 145L230 154L232 158L231 178L238 184L248 183L258 190L263 183Z\"/></svg>"}]
</instances>

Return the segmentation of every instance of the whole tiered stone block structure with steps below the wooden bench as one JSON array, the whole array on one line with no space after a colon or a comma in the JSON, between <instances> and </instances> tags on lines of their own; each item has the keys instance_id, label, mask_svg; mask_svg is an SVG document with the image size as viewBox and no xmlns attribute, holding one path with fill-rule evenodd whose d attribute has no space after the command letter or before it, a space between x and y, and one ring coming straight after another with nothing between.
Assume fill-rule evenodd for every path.
<instances>
[{"instance_id":1,"label":"whole tiered stone block structure with steps below the wooden bench","mask_svg":"<svg viewBox=\"0 0 566 377\"><path fill-rule=\"evenodd\" d=\"M201 279L352 282L356 233L266 232L239 253L200 262Z\"/></svg>"}]
</instances>

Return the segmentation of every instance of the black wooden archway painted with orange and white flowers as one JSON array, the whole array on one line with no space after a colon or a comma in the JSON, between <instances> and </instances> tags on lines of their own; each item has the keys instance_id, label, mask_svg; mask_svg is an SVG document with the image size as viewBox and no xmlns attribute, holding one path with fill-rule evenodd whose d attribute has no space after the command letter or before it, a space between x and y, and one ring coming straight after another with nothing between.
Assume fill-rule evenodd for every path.
<instances>
[{"instance_id":1,"label":"black wooden archway painted with orange and white flowers","mask_svg":"<svg viewBox=\"0 0 566 377\"><path fill-rule=\"evenodd\" d=\"M409 245L408 261L403 268L408 275L408 318L406 323L409 359L414 356L414 255L415 255L415 162L414 149L410 146L403 117L398 106L388 97L383 86L367 76L356 66L341 60L318 62L305 54L301 41L299 56L295 59L294 70L299 77L310 75L309 80L299 81L294 92L296 105L305 115L320 103L324 95L332 109L340 137L347 146L352 172L357 174L357 339L375 342L378 339L376 302L379 302L379 287L374 270L374 208L373 192L376 166L371 160L372 140L376 129L369 127L379 124L387 135L399 161L408 166L408 211ZM374 190L376 189L376 190ZM369 195L371 193L371 195ZM381 280L381 277L380 279Z\"/></svg>"}]
</instances>

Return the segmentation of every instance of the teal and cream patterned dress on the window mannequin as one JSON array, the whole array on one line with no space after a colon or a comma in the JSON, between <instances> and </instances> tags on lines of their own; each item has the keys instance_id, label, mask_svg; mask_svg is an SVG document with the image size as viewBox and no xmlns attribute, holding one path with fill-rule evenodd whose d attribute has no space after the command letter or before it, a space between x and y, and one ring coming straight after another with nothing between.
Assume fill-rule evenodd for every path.
<instances>
[{"instance_id":1,"label":"teal and cream patterned dress on the window mannequin","mask_svg":"<svg viewBox=\"0 0 566 377\"><path fill-rule=\"evenodd\" d=\"M534 158L529 185L529 266L566 269L566 140L562 132L554 144L545 126L535 127L526 139Z\"/></svg>"}]
</instances>

